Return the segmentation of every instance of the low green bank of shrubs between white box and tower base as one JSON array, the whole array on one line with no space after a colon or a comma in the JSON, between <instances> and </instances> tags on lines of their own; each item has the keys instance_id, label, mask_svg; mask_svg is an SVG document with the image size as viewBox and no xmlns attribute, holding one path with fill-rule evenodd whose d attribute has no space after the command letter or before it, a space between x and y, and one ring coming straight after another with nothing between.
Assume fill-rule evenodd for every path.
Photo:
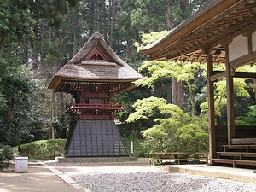
<instances>
[{"instance_id":1,"label":"low green bank of shrubs between white box and tower base","mask_svg":"<svg viewBox=\"0 0 256 192\"><path fill-rule=\"evenodd\" d=\"M66 139L56 139L56 156L60 156ZM15 153L20 156L27 156L29 160L53 160L54 157L54 139L39 140L32 143L22 144L21 153L17 152L17 147L14 148Z\"/></svg>"}]
</instances>

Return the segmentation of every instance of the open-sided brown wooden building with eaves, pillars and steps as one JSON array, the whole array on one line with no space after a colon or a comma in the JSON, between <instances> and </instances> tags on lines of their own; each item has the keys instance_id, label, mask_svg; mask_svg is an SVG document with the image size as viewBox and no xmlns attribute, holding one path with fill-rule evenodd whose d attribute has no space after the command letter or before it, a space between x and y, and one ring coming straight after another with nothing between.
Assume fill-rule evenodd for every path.
<instances>
[{"instance_id":1,"label":"open-sided brown wooden building with eaves, pillars and steps","mask_svg":"<svg viewBox=\"0 0 256 192\"><path fill-rule=\"evenodd\" d=\"M256 125L235 125L234 78L256 79L237 68L256 63L256 1L211 0L165 37L141 49L148 61L207 63L211 165L256 166ZM213 65L225 64L225 71ZM215 125L214 82L226 79L227 127Z\"/></svg>"}]
</instances>

